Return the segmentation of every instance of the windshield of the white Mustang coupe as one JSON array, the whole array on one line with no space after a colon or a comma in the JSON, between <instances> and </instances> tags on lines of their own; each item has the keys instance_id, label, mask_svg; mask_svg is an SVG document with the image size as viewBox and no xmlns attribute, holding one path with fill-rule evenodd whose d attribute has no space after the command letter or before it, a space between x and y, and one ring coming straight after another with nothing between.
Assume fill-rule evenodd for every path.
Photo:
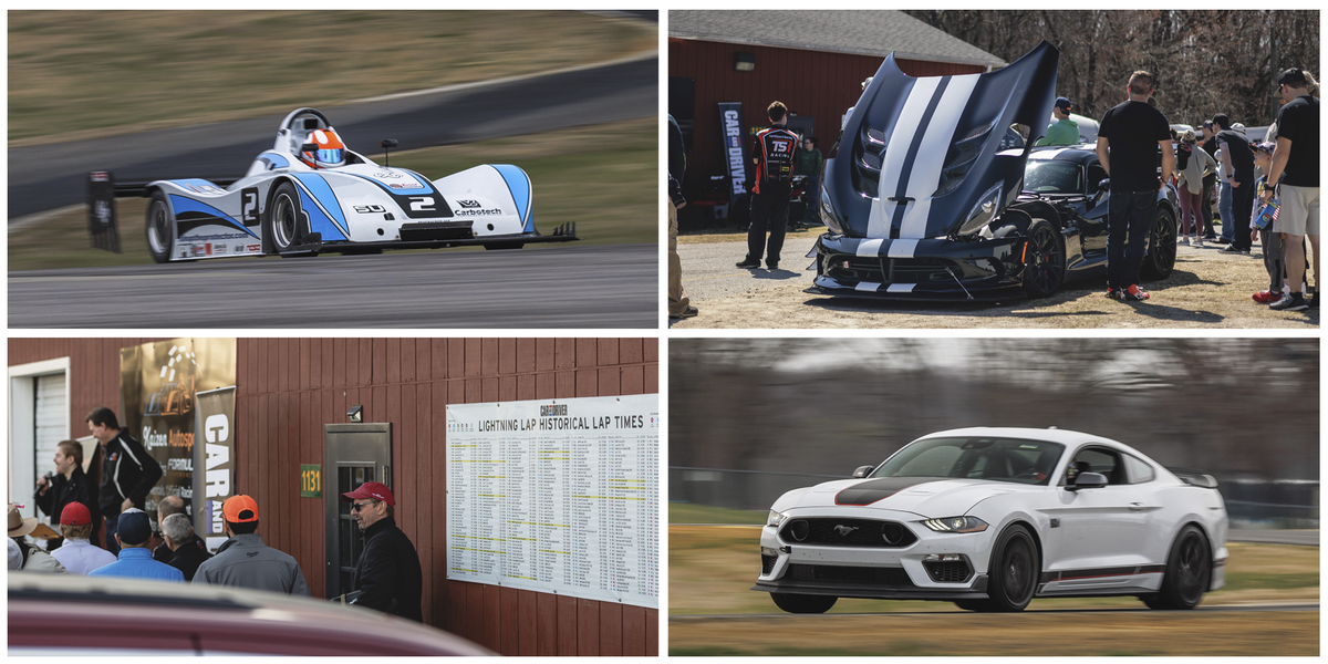
<instances>
[{"instance_id":1,"label":"windshield of the white Mustang coupe","mask_svg":"<svg viewBox=\"0 0 1328 664\"><path fill-rule=\"evenodd\" d=\"M871 477L960 477L1046 485L1065 446L1023 438L927 438L910 444Z\"/></svg>"}]
</instances>

